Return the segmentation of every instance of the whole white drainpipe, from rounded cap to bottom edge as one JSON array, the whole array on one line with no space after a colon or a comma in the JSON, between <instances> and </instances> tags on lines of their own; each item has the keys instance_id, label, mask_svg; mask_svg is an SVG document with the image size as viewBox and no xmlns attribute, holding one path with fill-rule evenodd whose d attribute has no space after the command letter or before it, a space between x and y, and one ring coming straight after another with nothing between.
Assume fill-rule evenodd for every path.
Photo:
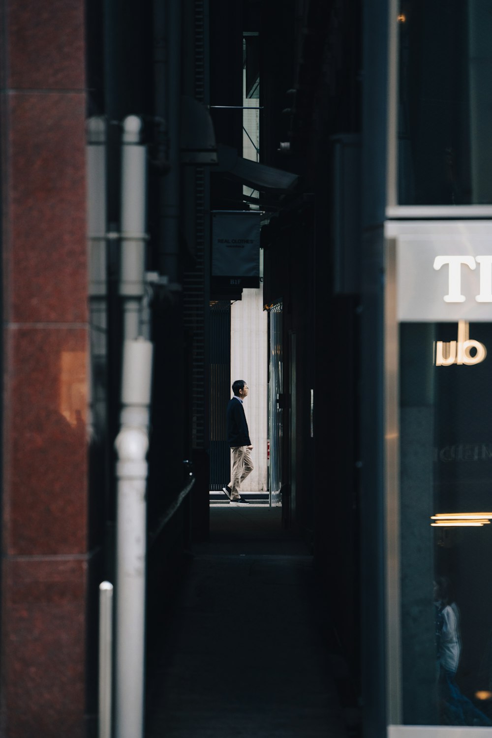
<instances>
[{"instance_id":1,"label":"whole white drainpipe, from rounded cap to bottom edge","mask_svg":"<svg viewBox=\"0 0 492 738\"><path fill-rule=\"evenodd\" d=\"M142 738L145 675L145 565L152 344L139 338L145 292L146 152L142 120L123 121L121 270L123 362L117 462L116 738Z\"/></svg>"}]
</instances>

